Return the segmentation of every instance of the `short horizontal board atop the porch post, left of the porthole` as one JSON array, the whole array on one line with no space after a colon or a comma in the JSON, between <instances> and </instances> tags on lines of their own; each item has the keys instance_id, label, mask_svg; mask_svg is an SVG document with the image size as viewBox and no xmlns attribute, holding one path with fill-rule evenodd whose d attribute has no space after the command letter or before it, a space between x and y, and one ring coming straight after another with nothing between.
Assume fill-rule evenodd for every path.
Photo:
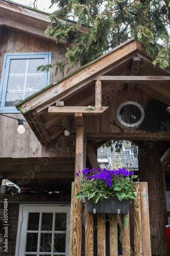
<instances>
[{"instance_id":1,"label":"short horizontal board atop the porch post, left of the porthole","mask_svg":"<svg viewBox=\"0 0 170 256\"><path fill-rule=\"evenodd\" d=\"M49 115L75 115L75 113L83 113L83 115L102 115L109 109L108 106L96 106L95 110L88 109L87 106L49 106Z\"/></svg>"}]
</instances>

